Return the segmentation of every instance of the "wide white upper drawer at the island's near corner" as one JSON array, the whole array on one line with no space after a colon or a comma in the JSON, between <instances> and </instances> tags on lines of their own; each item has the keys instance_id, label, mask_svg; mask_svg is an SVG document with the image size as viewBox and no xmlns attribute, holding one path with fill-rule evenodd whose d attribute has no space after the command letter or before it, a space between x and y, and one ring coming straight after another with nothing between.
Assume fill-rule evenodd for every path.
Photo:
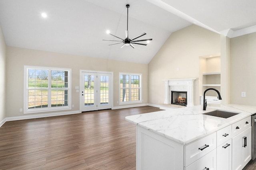
<instances>
[{"instance_id":1,"label":"wide white upper drawer at the island's near corner","mask_svg":"<svg viewBox=\"0 0 256 170\"><path fill-rule=\"evenodd\" d=\"M216 132L184 146L184 166L188 166L216 148Z\"/></svg>"}]
</instances>

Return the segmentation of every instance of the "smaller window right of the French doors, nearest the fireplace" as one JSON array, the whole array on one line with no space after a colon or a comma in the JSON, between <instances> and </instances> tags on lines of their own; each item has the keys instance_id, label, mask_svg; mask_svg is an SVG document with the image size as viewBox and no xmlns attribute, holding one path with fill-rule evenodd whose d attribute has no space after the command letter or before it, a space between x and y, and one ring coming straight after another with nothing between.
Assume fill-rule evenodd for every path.
<instances>
[{"instance_id":1,"label":"smaller window right of the French doors, nearest the fireplace","mask_svg":"<svg viewBox=\"0 0 256 170\"><path fill-rule=\"evenodd\" d=\"M141 103L141 74L119 74L120 104Z\"/></svg>"}]
</instances>

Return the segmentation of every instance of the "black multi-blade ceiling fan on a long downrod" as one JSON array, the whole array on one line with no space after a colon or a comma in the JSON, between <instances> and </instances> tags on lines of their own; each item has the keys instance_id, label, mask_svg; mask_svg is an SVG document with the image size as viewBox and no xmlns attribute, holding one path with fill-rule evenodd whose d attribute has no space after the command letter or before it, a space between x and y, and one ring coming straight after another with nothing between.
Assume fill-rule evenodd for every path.
<instances>
[{"instance_id":1,"label":"black multi-blade ceiling fan on a long downrod","mask_svg":"<svg viewBox=\"0 0 256 170\"><path fill-rule=\"evenodd\" d=\"M129 4L126 4L126 8L127 8L127 30L125 31L125 39L122 39L120 37L117 37L116 35L113 35L111 33L109 33L110 35L116 37L116 38L119 38L119 39L122 39L122 41L120 41L120 43L124 43L122 45L122 47L124 47L125 45L130 45L132 48L135 48L134 45L132 44L139 44L139 45L147 45L147 44L144 44L144 43L138 43L139 41L151 41L152 38L150 39L140 39L140 40L136 40L137 38L139 37L142 37L143 35L146 35L146 33L142 33L132 39L129 38L129 31L128 31L128 8L130 7ZM117 41L117 40L106 40L106 39L103 39L103 41ZM115 43L115 44L120 44L120 43ZM110 44L110 45L115 45L115 44ZM122 48L121 47L121 48Z\"/></svg>"}]
</instances>

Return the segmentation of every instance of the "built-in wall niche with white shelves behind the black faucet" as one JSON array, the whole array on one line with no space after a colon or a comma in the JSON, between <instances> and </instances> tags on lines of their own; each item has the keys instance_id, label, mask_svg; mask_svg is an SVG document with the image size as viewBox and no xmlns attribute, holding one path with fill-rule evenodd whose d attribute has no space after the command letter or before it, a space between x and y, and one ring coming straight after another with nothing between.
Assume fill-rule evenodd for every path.
<instances>
[{"instance_id":1,"label":"built-in wall niche with white shelves behind the black faucet","mask_svg":"<svg viewBox=\"0 0 256 170\"><path fill-rule=\"evenodd\" d=\"M200 96L208 88L215 88L220 92L221 72L220 72L220 55L203 56L199 58L199 85L201 87ZM221 92L220 92L221 93ZM218 96L213 90L206 93L207 96Z\"/></svg>"}]
</instances>

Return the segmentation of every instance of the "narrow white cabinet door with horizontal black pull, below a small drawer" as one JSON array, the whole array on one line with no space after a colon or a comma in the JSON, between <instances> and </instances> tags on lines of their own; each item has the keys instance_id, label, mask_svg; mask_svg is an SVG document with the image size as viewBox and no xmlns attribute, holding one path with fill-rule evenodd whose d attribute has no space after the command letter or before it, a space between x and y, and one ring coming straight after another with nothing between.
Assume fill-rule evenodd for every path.
<instances>
[{"instance_id":1,"label":"narrow white cabinet door with horizontal black pull, below a small drawer","mask_svg":"<svg viewBox=\"0 0 256 170\"><path fill-rule=\"evenodd\" d=\"M217 147L217 170L232 170L232 139Z\"/></svg>"}]
</instances>

